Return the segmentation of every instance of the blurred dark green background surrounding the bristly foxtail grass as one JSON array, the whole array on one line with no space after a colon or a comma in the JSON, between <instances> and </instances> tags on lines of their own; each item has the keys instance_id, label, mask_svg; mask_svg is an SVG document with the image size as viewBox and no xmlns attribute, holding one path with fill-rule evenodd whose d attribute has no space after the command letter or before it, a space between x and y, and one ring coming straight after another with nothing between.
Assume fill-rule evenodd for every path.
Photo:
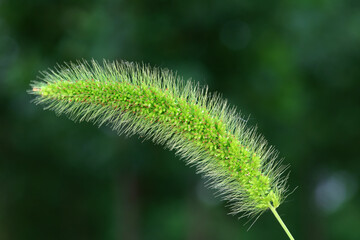
<instances>
[{"instance_id":1,"label":"blurred dark green background surrounding the bristly foxtail grass","mask_svg":"<svg viewBox=\"0 0 360 240\"><path fill-rule=\"evenodd\" d=\"M360 1L0 0L0 239L286 239L173 152L30 103L40 70L143 61L218 91L281 151L297 239L360 239Z\"/></svg>"}]
</instances>

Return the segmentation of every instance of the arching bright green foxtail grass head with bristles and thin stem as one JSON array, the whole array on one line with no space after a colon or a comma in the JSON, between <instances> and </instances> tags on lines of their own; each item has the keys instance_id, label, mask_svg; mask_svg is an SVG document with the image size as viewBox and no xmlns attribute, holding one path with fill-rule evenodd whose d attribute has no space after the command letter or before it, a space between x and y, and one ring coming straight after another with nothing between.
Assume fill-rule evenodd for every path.
<instances>
[{"instance_id":1,"label":"arching bright green foxtail grass head with bristles and thin stem","mask_svg":"<svg viewBox=\"0 0 360 240\"><path fill-rule=\"evenodd\" d=\"M80 61L42 72L28 92L36 104L74 121L108 124L175 150L196 166L232 214L276 212L286 193L285 167L234 107L206 87L144 64Z\"/></svg>"}]
</instances>

